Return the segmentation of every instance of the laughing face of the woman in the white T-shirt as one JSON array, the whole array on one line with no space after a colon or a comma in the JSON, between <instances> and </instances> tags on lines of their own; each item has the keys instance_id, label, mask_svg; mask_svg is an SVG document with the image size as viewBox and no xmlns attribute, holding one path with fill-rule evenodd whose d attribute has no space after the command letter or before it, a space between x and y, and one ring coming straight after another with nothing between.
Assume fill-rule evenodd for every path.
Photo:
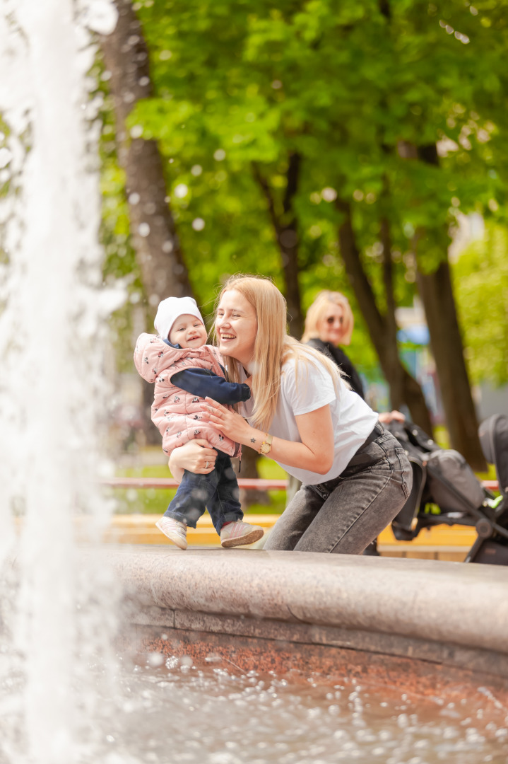
<instances>
[{"instance_id":1,"label":"laughing face of the woman in the white T-shirt","mask_svg":"<svg viewBox=\"0 0 508 764\"><path fill-rule=\"evenodd\" d=\"M220 298L215 319L219 350L247 367L254 354L258 322L256 310L238 290L227 290Z\"/></svg>"}]
</instances>

